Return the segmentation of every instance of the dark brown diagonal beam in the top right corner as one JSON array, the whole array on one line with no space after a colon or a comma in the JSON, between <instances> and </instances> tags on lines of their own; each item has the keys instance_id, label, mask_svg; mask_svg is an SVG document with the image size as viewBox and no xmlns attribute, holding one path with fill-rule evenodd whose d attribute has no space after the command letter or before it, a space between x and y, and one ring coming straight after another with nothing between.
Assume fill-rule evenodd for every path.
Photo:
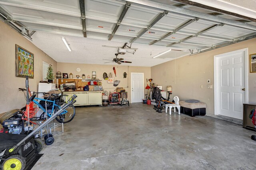
<instances>
[{"instance_id":1,"label":"dark brown diagonal beam in the top right corner","mask_svg":"<svg viewBox=\"0 0 256 170\"><path fill-rule=\"evenodd\" d=\"M240 15L240 14L236 14L234 12L229 12L229 11L221 10L219 8L214 8L212 6L207 6L207 5L204 5L204 4L200 4L198 2L193 2L191 0L172 0L172 1L180 2L180 3L183 3L183 4L192 5L192 6L196 6L196 7L199 7L199 8L206 9L206 10L211 10L211 11L214 11L214 12L218 12L218 13L222 13L222 14L227 14L227 15L230 15L230 16L235 16L237 18L242 18L244 20L256 22L255 18L250 18L248 16L243 16L243 15Z\"/></svg>"}]
</instances>

